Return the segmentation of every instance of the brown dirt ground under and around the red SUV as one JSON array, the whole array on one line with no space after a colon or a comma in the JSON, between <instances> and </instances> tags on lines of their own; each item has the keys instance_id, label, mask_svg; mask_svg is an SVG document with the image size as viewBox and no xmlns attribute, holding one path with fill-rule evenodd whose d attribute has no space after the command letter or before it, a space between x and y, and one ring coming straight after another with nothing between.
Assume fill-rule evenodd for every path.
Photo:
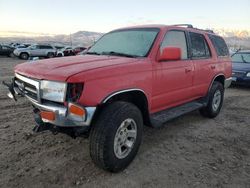
<instances>
[{"instance_id":1,"label":"brown dirt ground under and around the red SUV","mask_svg":"<svg viewBox=\"0 0 250 188\"><path fill-rule=\"evenodd\" d=\"M0 58L0 81L23 61ZM0 187L250 187L250 89L230 88L216 119L193 112L145 127L139 153L119 174L95 167L89 141L33 134L27 100L0 86Z\"/></svg>"}]
</instances>

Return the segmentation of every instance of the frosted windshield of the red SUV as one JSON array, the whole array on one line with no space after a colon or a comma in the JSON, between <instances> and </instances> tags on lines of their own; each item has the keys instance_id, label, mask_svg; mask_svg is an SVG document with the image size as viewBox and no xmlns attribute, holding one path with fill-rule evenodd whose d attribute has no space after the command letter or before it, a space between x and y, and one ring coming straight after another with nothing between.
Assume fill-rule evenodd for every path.
<instances>
[{"instance_id":1,"label":"frosted windshield of the red SUV","mask_svg":"<svg viewBox=\"0 0 250 188\"><path fill-rule=\"evenodd\" d=\"M87 54L145 57L158 32L157 28L113 31L98 40Z\"/></svg>"}]
</instances>

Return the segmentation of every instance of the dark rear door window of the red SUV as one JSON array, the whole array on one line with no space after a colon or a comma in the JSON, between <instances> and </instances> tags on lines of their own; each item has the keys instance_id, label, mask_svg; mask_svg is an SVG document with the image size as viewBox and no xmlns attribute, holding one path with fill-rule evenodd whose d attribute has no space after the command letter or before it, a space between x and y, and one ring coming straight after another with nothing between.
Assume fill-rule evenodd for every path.
<instances>
[{"instance_id":1,"label":"dark rear door window of the red SUV","mask_svg":"<svg viewBox=\"0 0 250 188\"><path fill-rule=\"evenodd\" d=\"M192 58L211 57L206 39L202 34L189 32Z\"/></svg>"}]
</instances>

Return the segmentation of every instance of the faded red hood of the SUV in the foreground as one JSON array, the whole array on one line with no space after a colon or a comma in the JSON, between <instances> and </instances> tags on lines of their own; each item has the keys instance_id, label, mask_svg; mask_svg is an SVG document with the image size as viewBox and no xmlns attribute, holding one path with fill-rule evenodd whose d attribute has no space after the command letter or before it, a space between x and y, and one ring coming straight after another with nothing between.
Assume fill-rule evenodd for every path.
<instances>
[{"instance_id":1,"label":"faded red hood of the SUV in the foreground","mask_svg":"<svg viewBox=\"0 0 250 188\"><path fill-rule=\"evenodd\" d=\"M135 61L138 60L117 56L80 55L30 61L17 65L15 72L35 79L66 81L80 72Z\"/></svg>"}]
</instances>

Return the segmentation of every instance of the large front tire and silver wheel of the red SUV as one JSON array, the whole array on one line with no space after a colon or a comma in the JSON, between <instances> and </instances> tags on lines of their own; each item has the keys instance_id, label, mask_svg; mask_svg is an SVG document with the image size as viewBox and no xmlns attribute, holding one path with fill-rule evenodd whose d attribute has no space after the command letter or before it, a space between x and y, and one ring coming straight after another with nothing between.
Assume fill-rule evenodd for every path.
<instances>
[{"instance_id":1,"label":"large front tire and silver wheel of the red SUV","mask_svg":"<svg viewBox=\"0 0 250 188\"><path fill-rule=\"evenodd\" d=\"M127 102L109 104L90 132L90 156L93 162L110 172L125 169L138 152L142 130L142 115L135 105Z\"/></svg>"}]
</instances>

